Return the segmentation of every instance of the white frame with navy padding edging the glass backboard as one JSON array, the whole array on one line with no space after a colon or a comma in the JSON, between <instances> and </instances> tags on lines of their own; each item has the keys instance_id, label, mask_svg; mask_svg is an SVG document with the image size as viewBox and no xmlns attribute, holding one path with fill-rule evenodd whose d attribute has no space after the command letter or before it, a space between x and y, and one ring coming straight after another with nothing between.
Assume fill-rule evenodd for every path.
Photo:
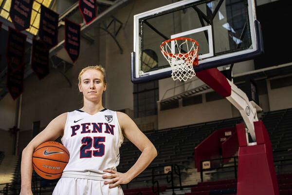
<instances>
[{"instance_id":1,"label":"white frame with navy padding edging the glass backboard","mask_svg":"<svg viewBox=\"0 0 292 195\"><path fill-rule=\"evenodd\" d=\"M131 54L131 81L133 83L143 83L147 81L162 79L162 78L169 78L171 77L171 68L170 66L167 68L158 69L151 72L143 73L141 70L139 70L139 63L140 63L140 57L139 57L139 51L140 51L140 37L139 33L141 33L138 30L138 26L140 25L139 20L144 18L149 18L149 16L156 17L159 14L163 14L164 12L167 12L167 10L170 9L176 9L183 5L193 3L193 2L199 2L201 0L182 0L176 3L172 3L160 8L156 8L153 10L146 11L141 14L137 14L134 16L134 48L133 52ZM206 0L204 0L206 1ZM210 0L211 1L211 0ZM242 50L238 51L237 55L235 56L233 53L224 54L221 56L216 56L213 58L208 59L201 59L199 61L199 66L194 67L196 72L199 72L201 70L206 70L214 67L219 67L223 65L228 65L231 63L236 63L240 61L246 61L249 59L254 59L256 56L263 53L263 40L262 40L262 32L261 32L261 26L259 21L256 20L256 9L255 9L255 2L254 0L247 0L248 2L248 16L249 20L252 22L249 22L249 28L251 32L251 40L252 40L252 49L248 50ZM210 25L207 25L205 27L202 27L207 30L208 36L210 36L210 32L212 31L208 30ZM182 33L178 33L176 35L172 35L170 39L183 36ZM159 47L161 43L157 43L157 46ZM200 45L200 42L199 42ZM209 45L209 48L212 45ZM212 53L212 51L210 51ZM157 55L162 55L157 54ZM199 59L201 57L199 56ZM142 73L141 73L142 72Z\"/></svg>"}]
</instances>

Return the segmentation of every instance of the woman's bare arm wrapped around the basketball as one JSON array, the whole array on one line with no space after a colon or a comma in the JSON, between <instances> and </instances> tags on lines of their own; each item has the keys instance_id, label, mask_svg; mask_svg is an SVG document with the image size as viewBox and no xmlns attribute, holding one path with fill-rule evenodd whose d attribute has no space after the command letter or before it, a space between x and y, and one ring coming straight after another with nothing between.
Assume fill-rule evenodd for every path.
<instances>
[{"instance_id":1,"label":"woman's bare arm wrapped around the basketball","mask_svg":"<svg viewBox=\"0 0 292 195\"><path fill-rule=\"evenodd\" d=\"M40 132L23 149L21 157L21 191L20 195L32 195L31 182L33 173L33 153L37 146L46 142L54 141L64 133L67 113L55 117L48 126Z\"/></svg>"}]
</instances>

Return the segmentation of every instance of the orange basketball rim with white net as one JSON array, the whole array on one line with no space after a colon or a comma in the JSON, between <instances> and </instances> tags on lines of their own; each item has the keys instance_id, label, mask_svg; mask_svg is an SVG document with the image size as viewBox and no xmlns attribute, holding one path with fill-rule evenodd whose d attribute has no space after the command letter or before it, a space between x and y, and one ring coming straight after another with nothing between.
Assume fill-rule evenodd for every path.
<instances>
[{"instance_id":1,"label":"orange basketball rim with white net","mask_svg":"<svg viewBox=\"0 0 292 195\"><path fill-rule=\"evenodd\" d=\"M184 41L182 43L178 43L178 40ZM168 43L170 43L170 45ZM177 49L177 54L172 51L172 48ZM184 51L182 48L186 51ZM193 66L199 65L199 44L196 40L189 38L169 39L161 43L160 49L172 68L171 77L173 80L179 79L180 81L186 81L187 79L196 76L193 68ZM172 51L172 53L170 53L170 51Z\"/></svg>"}]
</instances>

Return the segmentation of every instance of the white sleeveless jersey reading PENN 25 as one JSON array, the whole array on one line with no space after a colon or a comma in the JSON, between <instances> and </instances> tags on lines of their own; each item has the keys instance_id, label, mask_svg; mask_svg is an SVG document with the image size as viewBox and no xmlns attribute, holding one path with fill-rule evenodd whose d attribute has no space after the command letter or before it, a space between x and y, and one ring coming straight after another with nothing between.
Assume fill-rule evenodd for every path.
<instances>
[{"instance_id":1,"label":"white sleeveless jersey reading PENN 25","mask_svg":"<svg viewBox=\"0 0 292 195\"><path fill-rule=\"evenodd\" d=\"M116 112L108 109L95 115L81 110L69 112L61 139L70 154L64 173L116 171L123 140Z\"/></svg>"}]
</instances>

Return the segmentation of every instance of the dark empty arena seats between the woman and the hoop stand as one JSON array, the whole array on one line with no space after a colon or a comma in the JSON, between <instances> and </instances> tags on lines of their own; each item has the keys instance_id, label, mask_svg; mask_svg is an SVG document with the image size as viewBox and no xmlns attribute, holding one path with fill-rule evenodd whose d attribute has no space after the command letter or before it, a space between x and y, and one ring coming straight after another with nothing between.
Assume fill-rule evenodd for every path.
<instances>
[{"instance_id":1,"label":"dark empty arena seats between the woman and the hoop stand","mask_svg":"<svg viewBox=\"0 0 292 195\"><path fill-rule=\"evenodd\" d=\"M190 165L194 164L194 148L206 137L217 129L235 127L242 122L241 117L229 118L218 121L204 122L194 125L169 128L144 132L155 145L158 156L140 176L134 178L129 188L146 187L152 185L152 169L154 169L155 180L160 185L169 185L164 174L164 166L177 164L180 167L182 177ZM138 159L141 152L131 143L124 142L120 149L120 165L118 171L127 171ZM174 176L178 179L178 176ZM135 184L137 183L137 184Z\"/></svg>"}]
</instances>

